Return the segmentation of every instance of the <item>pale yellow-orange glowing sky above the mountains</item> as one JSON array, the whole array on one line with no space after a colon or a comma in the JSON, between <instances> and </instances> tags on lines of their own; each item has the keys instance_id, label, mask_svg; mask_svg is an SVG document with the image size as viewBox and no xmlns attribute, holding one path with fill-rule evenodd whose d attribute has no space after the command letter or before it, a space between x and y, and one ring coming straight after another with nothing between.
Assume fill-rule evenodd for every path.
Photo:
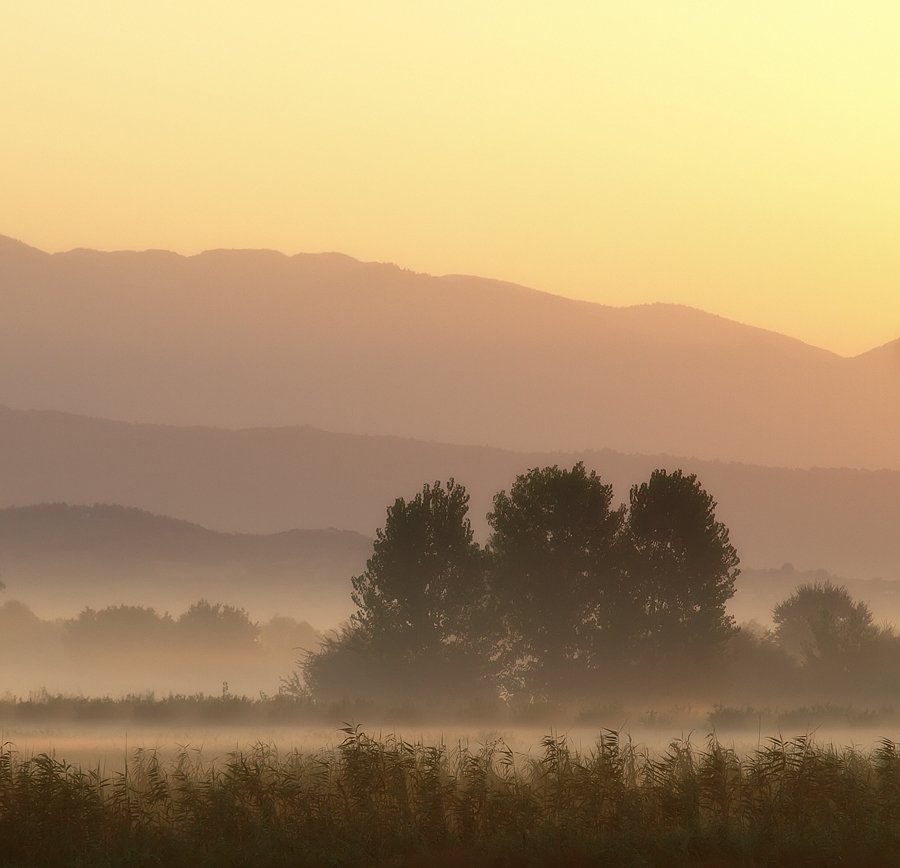
<instances>
[{"instance_id":1,"label":"pale yellow-orange glowing sky above the mountains","mask_svg":"<svg viewBox=\"0 0 900 868\"><path fill-rule=\"evenodd\" d=\"M900 4L0 0L0 234L900 337Z\"/></svg>"}]
</instances>

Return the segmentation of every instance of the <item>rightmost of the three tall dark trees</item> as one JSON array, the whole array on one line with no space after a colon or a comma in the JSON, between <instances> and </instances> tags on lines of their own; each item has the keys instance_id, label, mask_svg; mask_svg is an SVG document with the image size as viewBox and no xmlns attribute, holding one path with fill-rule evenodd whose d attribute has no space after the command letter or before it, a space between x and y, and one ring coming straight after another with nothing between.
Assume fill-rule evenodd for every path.
<instances>
[{"instance_id":1,"label":"rightmost of the three tall dark trees","mask_svg":"<svg viewBox=\"0 0 900 868\"><path fill-rule=\"evenodd\" d=\"M697 477L681 470L654 470L631 489L629 572L642 609L635 647L643 659L696 662L734 629L725 604L740 559L715 509Z\"/></svg>"}]
</instances>

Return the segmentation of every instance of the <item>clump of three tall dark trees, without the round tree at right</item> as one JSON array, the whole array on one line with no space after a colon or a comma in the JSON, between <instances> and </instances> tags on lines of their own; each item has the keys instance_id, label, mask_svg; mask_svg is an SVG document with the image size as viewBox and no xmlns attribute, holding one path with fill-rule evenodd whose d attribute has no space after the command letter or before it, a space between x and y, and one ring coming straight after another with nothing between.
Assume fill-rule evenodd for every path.
<instances>
[{"instance_id":1,"label":"clump of three tall dark trees, without the round tree at right","mask_svg":"<svg viewBox=\"0 0 900 868\"><path fill-rule=\"evenodd\" d=\"M316 698L586 695L716 655L738 555L697 478L655 471L615 506L582 463L535 468L494 498L474 540L465 488L388 508L357 611L303 663Z\"/></svg>"}]
</instances>

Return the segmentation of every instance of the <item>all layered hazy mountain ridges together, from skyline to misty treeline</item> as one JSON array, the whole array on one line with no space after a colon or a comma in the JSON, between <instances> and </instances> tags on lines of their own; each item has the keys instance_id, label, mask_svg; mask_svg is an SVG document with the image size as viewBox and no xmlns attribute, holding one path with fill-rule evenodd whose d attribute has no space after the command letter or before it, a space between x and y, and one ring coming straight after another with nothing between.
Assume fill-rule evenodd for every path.
<instances>
[{"instance_id":1,"label":"all layered hazy mountain ridges together, from skyline to misty treeline","mask_svg":"<svg viewBox=\"0 0 900 868\"><path fill-rule=\"evenodd\" d=\"M0 507L158 514L0 513L7 596L48 612L207 595L328 626L394 498L455 477L484 541L498 490L577 460L620 501L697 473L745 568L900 579L900 341L847 359L339 254L0 237L2 404Z\"/></svg>"}]
</instances>

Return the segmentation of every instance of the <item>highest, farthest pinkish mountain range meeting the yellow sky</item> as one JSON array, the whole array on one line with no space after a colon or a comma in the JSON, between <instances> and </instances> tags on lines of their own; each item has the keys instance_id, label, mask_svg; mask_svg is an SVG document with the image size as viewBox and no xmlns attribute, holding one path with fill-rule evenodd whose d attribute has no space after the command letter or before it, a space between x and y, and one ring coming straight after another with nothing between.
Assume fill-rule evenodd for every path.
<instances>
[{"instance_id":1,"label":"highest, farthest pinkish mountain range meeting the yellow sky","mask_svg":"<svg viewBox=\"0 0 900 868\"><path fill-rule=\"evenodd\" d=\"M900 469L900 341L846 359L685 307L614 308L338 254L50 255L0 238L0 401L180 425ZM194 460L211 470L217 459ZM244 453L251 489L253 462Z\"/></svg>"}]
</instances>

